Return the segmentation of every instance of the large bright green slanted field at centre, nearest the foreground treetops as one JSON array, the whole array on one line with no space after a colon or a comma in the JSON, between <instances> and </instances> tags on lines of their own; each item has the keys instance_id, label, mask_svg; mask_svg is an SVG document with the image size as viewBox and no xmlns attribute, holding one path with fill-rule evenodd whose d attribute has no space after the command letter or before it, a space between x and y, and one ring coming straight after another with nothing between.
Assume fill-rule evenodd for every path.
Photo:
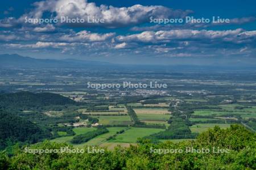
<instances>
[{"instance_id":1,"label":"large bright green slanted field at centre, nearest the foreground treetops","mask_svg":"<svg viewBox=\"0 0 256 170\"><path fill-rule=\"evenodd\" d=\"M124 143L136 143L137 138L146 137L148 135L158 133L164 129L153 129L153 128L131 128L126 130L124 133L117 135L115 139L109 142L124 142Z\"/></svg>"}]
</instances>

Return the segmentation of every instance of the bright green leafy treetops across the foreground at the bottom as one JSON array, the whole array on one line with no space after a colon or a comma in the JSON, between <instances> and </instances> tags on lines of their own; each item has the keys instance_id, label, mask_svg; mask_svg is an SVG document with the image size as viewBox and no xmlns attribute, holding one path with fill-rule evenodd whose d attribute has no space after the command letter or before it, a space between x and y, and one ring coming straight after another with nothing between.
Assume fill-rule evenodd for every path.
<instances>
[{"instance_id":1,"label":"bright green leafy treetops across the foreground at the bottom","mask_svg":"<svg viewBox=\"0 0 256 170\"><path fill-rule=\"evenodd\" d=\"M28 154L17 149L10 158L1 152L0 167L4 169L256 169L255 133L241 125L228 129L215 127L201 133L195 141L153 144L142 140L138 146L116 147L103 154ZM68 146L67 143L45 141L31 148L50 149ZM228 149L228 153L169 153L158 154L152 149L186 147ZM72 146L69 146L72 147Z\"/></svg>"}]
</instances>

